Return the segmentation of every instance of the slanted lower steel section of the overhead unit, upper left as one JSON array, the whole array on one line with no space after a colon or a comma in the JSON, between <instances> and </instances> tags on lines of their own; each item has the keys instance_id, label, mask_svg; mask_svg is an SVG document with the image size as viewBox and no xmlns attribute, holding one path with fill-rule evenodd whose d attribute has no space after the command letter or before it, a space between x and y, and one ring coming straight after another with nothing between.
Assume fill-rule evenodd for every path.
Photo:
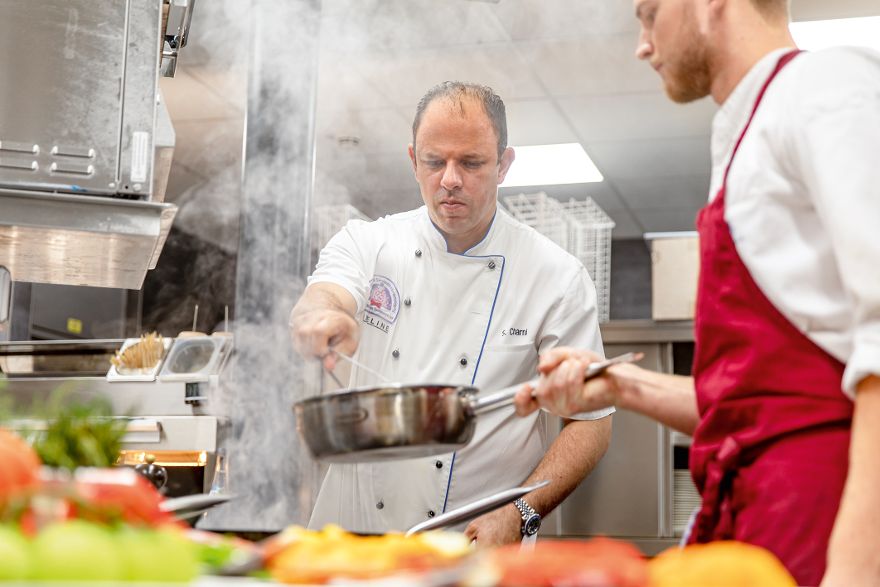
<instances>
[{"instance_id":1,"label":"slanted lower steel section of the overhead unit, upper left","mask_svg":"<svg viewBox=\"0 0 880 587\"><path fill-rule=\"evenodd\" d=\"M0 189L0 265L14 281L140 289L177 206Z\"/></svg>"}]
</instances>

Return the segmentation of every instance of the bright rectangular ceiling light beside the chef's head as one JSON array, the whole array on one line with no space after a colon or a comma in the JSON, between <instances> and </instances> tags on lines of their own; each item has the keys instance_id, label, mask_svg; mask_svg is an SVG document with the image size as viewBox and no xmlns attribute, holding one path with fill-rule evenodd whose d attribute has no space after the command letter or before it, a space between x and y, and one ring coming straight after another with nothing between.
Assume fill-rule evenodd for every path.
<instances>
[{"instance_id":1,"label":"bright rectangular ceiling light beside the chef's head","mask_svg":"<svg viewBox=\"0 0 880 587\"><path fill-rule=\"evenodd\" d=\"M514 147L516 160L501 187L594 183L604 178L580 143Z\"/></svg>"}]
</instances>

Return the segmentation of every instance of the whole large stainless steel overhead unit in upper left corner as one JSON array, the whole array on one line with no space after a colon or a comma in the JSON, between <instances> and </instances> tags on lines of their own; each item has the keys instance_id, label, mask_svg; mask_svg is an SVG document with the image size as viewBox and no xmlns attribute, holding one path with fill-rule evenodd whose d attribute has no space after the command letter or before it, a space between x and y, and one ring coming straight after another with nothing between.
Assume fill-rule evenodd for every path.
<instances>
[{"instance_id":1,"label":"whole large stainless steel overhead unit in upper left corner","mask_svg":"<svg viewBox=\"0 0 880 587\"><path fill-rule=\"evenodd\" d=\"M139 289L155 267L177 212L158 76L191 8L0 0L0 266L14 281Z\"/></svg>"}]
</instances>

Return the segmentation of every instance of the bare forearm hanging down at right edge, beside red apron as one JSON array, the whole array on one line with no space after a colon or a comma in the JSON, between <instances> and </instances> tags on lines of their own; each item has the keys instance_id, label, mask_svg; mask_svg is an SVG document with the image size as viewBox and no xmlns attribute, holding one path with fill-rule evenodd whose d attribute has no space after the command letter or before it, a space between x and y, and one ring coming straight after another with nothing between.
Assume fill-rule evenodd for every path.
<instances>
[{"instance_id":1,"label":"bare forearm hanging down at right edge, beside red apron","mask_svg":"<svg viewBox=\"0 0 880 587\"><path fill-rule=\"evenodd\" d=\"M880 584L880 377L856 391L849 473L831 535L823 586Z\"/></svg>"}]
</instances>

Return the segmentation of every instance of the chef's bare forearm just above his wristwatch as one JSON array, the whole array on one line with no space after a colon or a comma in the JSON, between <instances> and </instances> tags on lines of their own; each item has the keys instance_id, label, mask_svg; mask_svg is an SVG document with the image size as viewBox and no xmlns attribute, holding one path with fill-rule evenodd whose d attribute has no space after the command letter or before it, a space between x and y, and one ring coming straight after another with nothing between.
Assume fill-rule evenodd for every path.
<instances>
[{"instance_id":1,"label":"chef's bare forearm just above his wristwatch","mask_svg":"<svg viewBox=\"0 0 880 587\"><path fill-rule=\"evenodd\" d=\"M541 515L550 513L599 463L610 441L611 416L570 421L526 481L550 481L525 498L529 505Z\"/></svg>"}]
</instances>

